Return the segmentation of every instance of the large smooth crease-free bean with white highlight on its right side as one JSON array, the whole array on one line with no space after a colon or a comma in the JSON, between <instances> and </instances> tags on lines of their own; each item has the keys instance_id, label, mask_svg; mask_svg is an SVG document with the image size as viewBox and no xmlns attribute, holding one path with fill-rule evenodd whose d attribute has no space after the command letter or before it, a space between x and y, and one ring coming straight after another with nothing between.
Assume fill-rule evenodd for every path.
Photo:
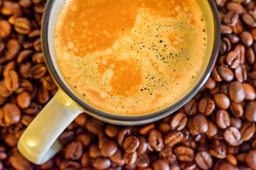
<instances>
[{"instance_id":1,"label":"large smooth crease-free bean with white highlight on its right side","mask_svg":"<svg viewBox=\"0 0 256 170\"><path fill-rule=\"evenodd\" d=\"M245 99L245 90L240 81L233 81L228 86L230 100L239 103Z\"/></svg>"}]
</instances>

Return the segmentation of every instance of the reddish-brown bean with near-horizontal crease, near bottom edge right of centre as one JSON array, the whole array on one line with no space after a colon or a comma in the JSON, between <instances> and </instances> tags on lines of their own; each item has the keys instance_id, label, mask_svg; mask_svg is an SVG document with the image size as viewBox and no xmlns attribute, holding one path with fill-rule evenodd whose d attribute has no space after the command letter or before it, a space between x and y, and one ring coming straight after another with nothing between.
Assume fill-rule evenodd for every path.
<instances>
[{"instance_id":1,"label":"reddish-brown bean with near-horizontal crease, near bottom edge right of centre","mask_svg":"<svg viewBox=\"0 0 256 170\"><path fill-rule=\"evenodd\" d=\"M178 146L174 149L174 154L183 162L192 162L194 159L194 151L189 147Z\"/></svg>"}]
</instances>

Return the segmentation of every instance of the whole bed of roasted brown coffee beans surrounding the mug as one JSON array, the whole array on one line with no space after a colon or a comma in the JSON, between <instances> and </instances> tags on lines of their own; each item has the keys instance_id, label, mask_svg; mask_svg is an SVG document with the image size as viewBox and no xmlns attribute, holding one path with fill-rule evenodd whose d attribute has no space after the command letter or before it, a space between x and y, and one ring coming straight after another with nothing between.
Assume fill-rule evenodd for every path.
<instances>
[{"instance_id":1,"label":"whole bed of roasted brown coffee beans surrounding the mug","mask_svg":"<svg viewBox=\"0 0 256 170\"><path fill-rule=\"evenodd\" d=\"M256 1L215 3L222 33L218 61L186 106L136 127L82 113L60 135L60 153L36 166L16 145L58 90L41 50L46 1L0 0L0 170L256 169Z\"/></svg>"}]
</instances>

